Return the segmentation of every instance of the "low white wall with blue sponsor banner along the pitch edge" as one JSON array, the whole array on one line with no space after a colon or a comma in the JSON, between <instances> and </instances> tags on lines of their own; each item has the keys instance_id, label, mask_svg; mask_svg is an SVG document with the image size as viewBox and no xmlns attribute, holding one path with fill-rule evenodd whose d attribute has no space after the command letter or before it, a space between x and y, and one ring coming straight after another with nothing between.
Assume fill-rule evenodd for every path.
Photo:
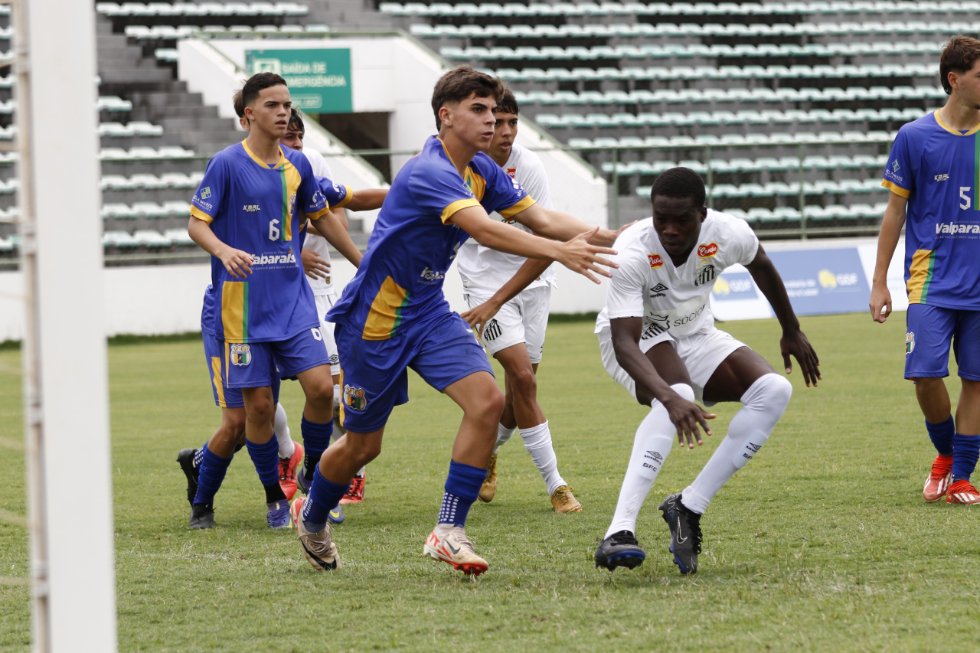
<instances>
[{"instance_id":1,"label":"low white wall with blue sponsor banner along the pitch edge","mask_svg":"<svg viewBox=\"0 0 980 653\"><path fill-rule=\"evenodd\" d=\"M784 276L800 314L867 310L868 284L875 258L873 239L766 243L765 247ZM900 242L888 275L895 310L907 306L902 281L903 251L904 243ZM354 269L346 261L336 261L333 272L337 282L343 284L353 276ZM199 330L201 298L210 274L207 264L106 268L102 276L106 335L160 335ZM712 296L712 310L718 319L772 315L755 286L746 286L744 278L739 276L747 274L732 268L719 278ZM23 338L23 283L19 272L0 273L0 342ZM445 290L453 309L464 310L462 286L454 269L446 275ZM551 298L553 313L597 312L604 302L604 284L589 283L558 266L558 288ZM74 317L64 315L53 319L62 320L66 337L71 337Z\"/></svg>"}]
</instances>

